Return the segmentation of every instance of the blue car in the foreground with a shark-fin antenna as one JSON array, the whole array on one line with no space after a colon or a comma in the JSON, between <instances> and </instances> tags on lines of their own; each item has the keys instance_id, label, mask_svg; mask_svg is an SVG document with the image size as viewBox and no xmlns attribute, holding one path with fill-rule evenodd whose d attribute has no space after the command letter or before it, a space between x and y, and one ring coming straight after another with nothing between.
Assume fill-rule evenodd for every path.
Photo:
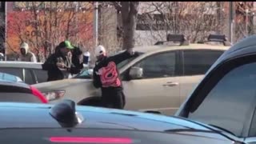
<instances>
[{"instance_id":1,"label":"blue car in the foreground with a shark-fin antenna","mask_svg":"<svg viewBox=\"0 0 256 144\"><path fill-rule=\"evenodd\" d=\"M214 126L125 110L0 102L1 143L242 144ZM14 137L15 136L15 137Z\"/></svg>"}]
</instances>

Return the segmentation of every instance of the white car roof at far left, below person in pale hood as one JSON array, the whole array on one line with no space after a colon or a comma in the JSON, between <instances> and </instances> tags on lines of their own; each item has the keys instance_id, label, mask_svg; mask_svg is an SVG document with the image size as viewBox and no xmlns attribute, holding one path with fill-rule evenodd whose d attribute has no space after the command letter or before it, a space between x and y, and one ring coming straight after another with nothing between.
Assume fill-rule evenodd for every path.
<instances>
[{"instance_id":1,"label":"white car roof at far left, below person in pale hood","mask_svg":"<svg viewBox=\"0 0 256 144\"><path fill-rule=\"evenodd\" d=\"M16 61L1 61L0 67L42 69L42 62L16 62Z\"/></svg>"}]
</instances>

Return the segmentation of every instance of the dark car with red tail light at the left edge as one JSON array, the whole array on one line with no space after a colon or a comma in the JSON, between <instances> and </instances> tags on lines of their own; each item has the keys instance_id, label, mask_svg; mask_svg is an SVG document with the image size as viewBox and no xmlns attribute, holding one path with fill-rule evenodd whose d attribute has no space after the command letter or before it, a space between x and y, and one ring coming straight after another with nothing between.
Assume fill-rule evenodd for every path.
<instances>
[{"instance_id":1,"label":"dark car with red tail light at the left edge","mask_svg":"<svg viewBox=\"0 0 256 144\"><path fill-rule=\"evenodd\" d=\"M34 86L23 82L0 80L0 102L42 102L47 99Z\"/></svg>"}]
</instances>

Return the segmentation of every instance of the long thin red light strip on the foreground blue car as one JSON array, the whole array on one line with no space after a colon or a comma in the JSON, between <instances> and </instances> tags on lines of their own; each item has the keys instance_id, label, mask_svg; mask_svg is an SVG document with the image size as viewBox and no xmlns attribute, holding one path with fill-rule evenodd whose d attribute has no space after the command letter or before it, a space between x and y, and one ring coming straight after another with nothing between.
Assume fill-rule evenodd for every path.
<instances>
[{"instance_id":1,"label":"long thin red light strip on the foreground blue car","mask_svg":"<svg viewBox=\"0 0 256 144\"><path fill-rule=\"evenodd\" d=\"M123 143L131 144L131 138L88 138L88 137L52 137L50 142L70 142L70 143Z\"/></svg>"}]
</instances>

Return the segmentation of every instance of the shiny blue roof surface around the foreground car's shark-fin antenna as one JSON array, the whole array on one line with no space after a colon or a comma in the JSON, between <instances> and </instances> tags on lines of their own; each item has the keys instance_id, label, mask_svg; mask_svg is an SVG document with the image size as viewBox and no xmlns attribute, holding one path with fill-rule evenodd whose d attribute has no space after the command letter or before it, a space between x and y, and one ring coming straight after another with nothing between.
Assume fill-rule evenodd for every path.
<instances>
[{"instance_id":1,"label":"shiny blue roof surface around the foreground car's shark-fin antenna","mask_svg":"<svg viewBox=\"0 0 256 144\"><path fill-rule=\"evenodd\" d=\"M50 105L42 104L2 102L0 103L0 129L62 127L50 116L50 107ZM230 142L235 139L184 118L90 106L77 106L77 111L85 119L84 122L76 126L77 128L154 131L174 134L177 137L197 137L221 142Z\"/></svg>"}]
</instances>

